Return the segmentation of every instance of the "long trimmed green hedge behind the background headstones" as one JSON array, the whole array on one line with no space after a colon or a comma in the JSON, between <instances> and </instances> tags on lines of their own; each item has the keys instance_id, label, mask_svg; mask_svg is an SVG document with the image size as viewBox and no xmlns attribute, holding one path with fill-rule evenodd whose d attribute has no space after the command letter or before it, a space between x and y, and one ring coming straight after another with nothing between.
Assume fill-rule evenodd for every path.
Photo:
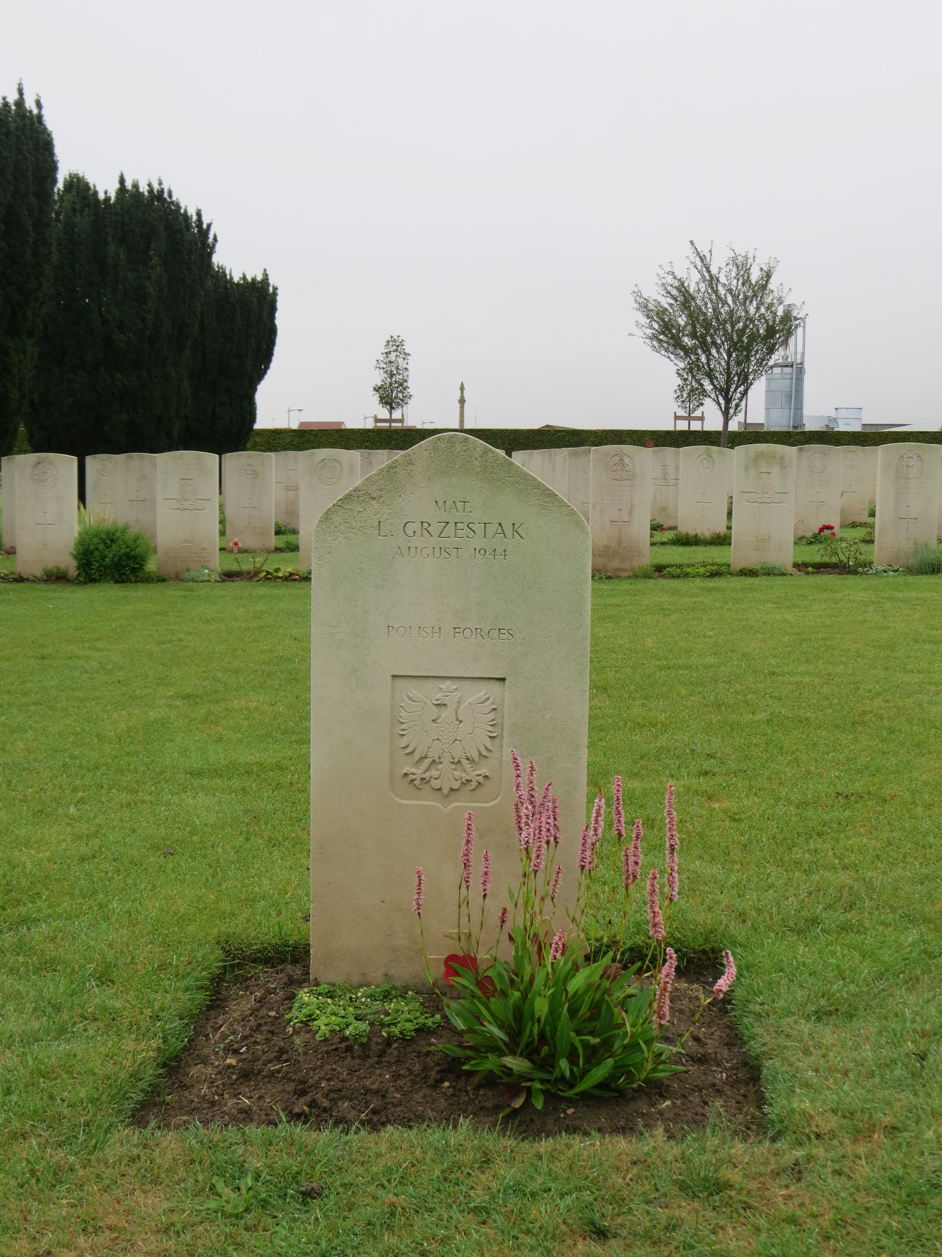
<instances>
[{"instance_id":1,"label":"long trimmed green hedge behind the background headstones","mask_svg":"<svg viewBox=\"0 0 942 1257\"><path fill-rule=\"evenodd\" d=\"M455 432L453 427L333 427L294 429L256 427L249 437L247 449L266 454L283 450L408 450L430 436ZM657 447L681 449L685 445L718 445L721 434L674 432L673 429L613 429L579 427L546 431L539 427L471 427L468 436L476 436L497 450L559 450L582 445L644 445L652 441ZM922 441L927 445L942 444L942 432L730 432L730 449L737 445L889 445L896 441Z\"/></svg>"}]
</instances>

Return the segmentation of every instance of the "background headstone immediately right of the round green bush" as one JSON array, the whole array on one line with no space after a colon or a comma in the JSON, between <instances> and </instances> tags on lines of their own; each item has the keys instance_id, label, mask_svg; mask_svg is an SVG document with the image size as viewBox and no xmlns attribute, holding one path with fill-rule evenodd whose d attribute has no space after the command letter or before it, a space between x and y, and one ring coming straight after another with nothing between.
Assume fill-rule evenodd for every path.
<instances>
[{"instance_id":1,"label":"background headstone immediately right of the round green bush","mask_svg":"<svg viewBox=\"0 0 942 1257\"><path fill-rule=\"evenodd\" d=\"M157 455L157 571L182 576L219 567L219 455Z\"/></svg>"}]
</instances>

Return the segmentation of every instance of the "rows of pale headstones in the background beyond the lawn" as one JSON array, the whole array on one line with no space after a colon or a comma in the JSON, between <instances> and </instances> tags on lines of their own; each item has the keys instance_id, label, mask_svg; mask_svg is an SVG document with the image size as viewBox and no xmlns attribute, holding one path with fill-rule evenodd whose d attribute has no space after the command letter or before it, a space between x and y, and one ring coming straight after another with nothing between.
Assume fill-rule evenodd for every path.
<instances>
[{"instance_id":1,"label":"rows of pale headstones in the background beyond the lawn","mask_svg":"<svg viewBox=\"0 0 942 1257\"><path fill-rule=\"evenodd\" d=\"M278 520L299 530L299 562L309 567L322 513L396 454L318 449L224 455L226 547L274 549ZM872 505L877 563L903 564L917 543L934 544L942 532L937 445L605 445L519 450L512 458L583 515L592 532L593 571L612 576L628 576L649 562L654 519L705 537L725 532L730 499L734 571L762 562L791 566L794 538L824 524L865 520ZM168 577L219 566L219 458L202 451L85 459L93 518L139 528ZM3 460L3 542L15 547L24 576L73 567L77 499L77 459L28 454ZM418 527L404 539L416 546L436 539Z\"/></svg>"}]
</instances>

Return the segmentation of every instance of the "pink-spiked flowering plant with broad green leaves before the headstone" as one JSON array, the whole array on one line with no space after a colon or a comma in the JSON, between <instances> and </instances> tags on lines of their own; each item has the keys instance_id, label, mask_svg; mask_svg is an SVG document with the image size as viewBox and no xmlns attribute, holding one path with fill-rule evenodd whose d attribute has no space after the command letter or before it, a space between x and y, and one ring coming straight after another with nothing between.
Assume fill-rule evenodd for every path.
<instances>
[{"instance_id":1,"label":"pink-spiked flowering plant with broad green leaves before the headstone","mask_svg":"<svg viewBox=\"0 0 942 1257\"><path fill-rule=\"evenodd\" d=\"M646 882L643 911L649 948L643 963L618 962L628 936L632 891L641 880L642 822L627 841L622 778L613 791L613 828L624 846L619 854L623 889L617 938L597 948L587 935L587 909L599 865L605 799L599 792L579 842L578 882L571 908L561 897L564 870L559 804L548 782L536 788L533 759L524 773L515 750L514 823L520 855L520 881L507 889L507 906L497 916L496 935L484 947L485 903L491 892L491 856L485 851L477 891L472 890L474 813L465 816L461 875L457 887L457 950L445 958L445 982L453 992L445 1012L461 1042L442 1043L440 1051L460 1057L477 1082L499 1081L507 1101L519 1107L526 1095L540 1109L549 1091L560 1096L615 1095L646 1081L676 1073L673 1053L683 1047L692 1026L677 1043L663 1042L671 1018L671 987L677 957L667 945L671 911L679 891L677 813L673 783L664 802L666 850L662 875L652 869ZM480 914L472 896L480 892ZM641 892L641 887L639 891ZM637 894L636 892L636 897ZM412 910L418 916L426 973L431 969L422 930L425 875L416 869ZM506 931L511 959L499 955ZM598 952L600 950L600 954ZM730 989L736 968L728 952L726 969L713 993L701 1001L697 1014ZM696 1024L696 1019L695 1019Z\"/></svg>"}]
</instances>

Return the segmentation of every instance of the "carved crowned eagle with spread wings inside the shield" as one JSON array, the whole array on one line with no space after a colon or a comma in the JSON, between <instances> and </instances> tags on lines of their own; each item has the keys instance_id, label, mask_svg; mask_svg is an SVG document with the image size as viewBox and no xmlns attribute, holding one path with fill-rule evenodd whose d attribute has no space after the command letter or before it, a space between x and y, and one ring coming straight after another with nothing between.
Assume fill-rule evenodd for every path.
<instances>
[{"instance_id":1,"label":"carved crowned eagle with spread wings inside the shield","mask_svg":"<svg viewBox=\"0 0 942 1257\"><path fill-rule=\"evenodd\" d=\"M477 763L492 754L496 737L497 705L487 690L462 703L457 685L440 681L433 699L413 689L402 695L399 738L416 764L402 776L417 789L428 784L447 798L461 786L480 786L490 773Z\"/></svg>"}]
</instances>

